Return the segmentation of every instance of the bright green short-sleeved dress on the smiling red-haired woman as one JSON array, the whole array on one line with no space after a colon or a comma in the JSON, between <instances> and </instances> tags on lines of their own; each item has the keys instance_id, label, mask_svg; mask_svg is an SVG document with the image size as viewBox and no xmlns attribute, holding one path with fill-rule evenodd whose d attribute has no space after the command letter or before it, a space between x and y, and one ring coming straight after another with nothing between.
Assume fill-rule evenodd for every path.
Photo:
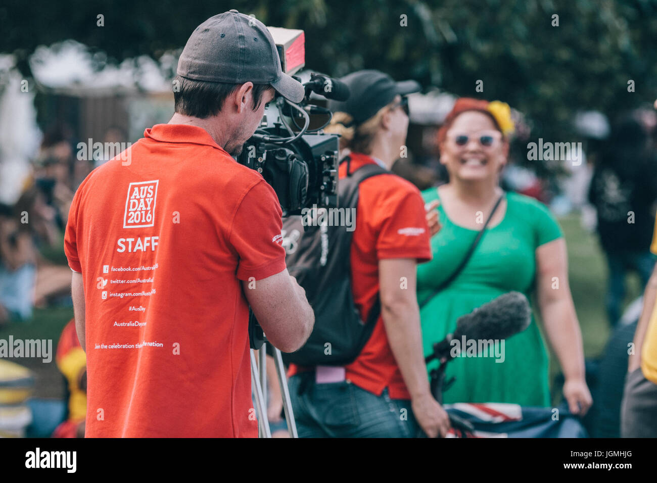
<instances>
[{"instance_id":1,"label":"bright green short-sleeved dress on the smiling red-haired woman","mask_svg":"<svg viewBox=\"0 0 657 483\"><path fill-rule=\"evenodd\" d=\"M439 199L435 188L422 193L425 202ZM506 193L507 211L502 221L480 240L472 258L449 287L420 310L424 355L432 345L453 333L457 319L493 298L517 290L532 301L535 288L535 250L562 236L545 205L516 193ZM447 279L463 260L477 230L452 223L438 207L442 228L431 240L434 258L418 266L417 294L420 304ZM520 405L550 404L548 357L543 338L532 315L522 333L504 341L497 356L457 357L447 364L446 379L455 377L443 393L444 403L503 402ZM472 354L472 352L470 352ZM497 362L499 361L499 362ZM437 361L428 364L431 370Z\"/></svg>"}]
</instances>

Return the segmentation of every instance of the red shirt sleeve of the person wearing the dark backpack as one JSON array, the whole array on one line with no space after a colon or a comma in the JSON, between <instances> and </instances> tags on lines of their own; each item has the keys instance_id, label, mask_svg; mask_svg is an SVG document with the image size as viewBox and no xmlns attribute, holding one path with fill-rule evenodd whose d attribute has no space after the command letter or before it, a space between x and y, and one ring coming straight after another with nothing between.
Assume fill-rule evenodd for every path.
<instances>
[{"instance_id":1,"label":"red shirt sleeve of the person wearing the dark backpack","mask_svg":"<svg viewBox=\"0 0 657 483\"><path fill-rule=\"evenodd\" d=\"M424 200L417 188L405 183L389 187L385 201L375 209L379 226L376 239L378 260L415 258L418 263L431 260Z\"/></svg>"}]
</instances>

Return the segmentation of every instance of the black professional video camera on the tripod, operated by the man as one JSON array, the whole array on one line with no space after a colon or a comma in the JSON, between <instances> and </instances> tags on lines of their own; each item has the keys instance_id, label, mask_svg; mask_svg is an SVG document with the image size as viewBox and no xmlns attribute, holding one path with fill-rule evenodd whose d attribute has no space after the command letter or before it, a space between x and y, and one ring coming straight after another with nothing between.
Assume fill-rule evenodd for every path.
<instances>
[{"instance_id":1,"label":"black professional video camera on the tripod, operated by the man","mask_svg":"<svg viewBox=\"0 0 657 483\"><path fill-rule=\"evenodd\" d=\"M283 71L291 74L302 68L304 32L272 27L269 31L279 49ZM292 62L295 65L290 65ZM294 78L302 82L299 77ZM310 80L302 84L306 93L299 104L279 96L267 105L260 127L237 158L238 163L261 173L273 187L283 216L301 214L302 208L313 204L318 208L338 204L339 136L322 131L332 113L312 104L311 94L344 101L349 97L349 89L323 74L310 74ZM309 114L327 116L327 121L310 129ZM304 120L303 127L298 120Z\"/></svg>"}]
</instances>

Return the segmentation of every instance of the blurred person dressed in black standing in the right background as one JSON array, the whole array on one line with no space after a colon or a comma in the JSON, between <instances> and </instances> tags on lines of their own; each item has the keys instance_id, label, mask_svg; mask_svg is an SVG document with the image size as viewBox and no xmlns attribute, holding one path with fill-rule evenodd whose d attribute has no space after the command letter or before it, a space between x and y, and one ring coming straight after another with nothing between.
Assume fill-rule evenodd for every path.
<instances>
[{"instance_id":1,"label":"blurred person dressed in black standing in the right background","mask_svg":"<svg viewBox=\"0 0 657 483\"><path fill-rule=\"evenodd\" d=\"M627 272L639 275L642 290L652 273L649 247L656 199L657 163L648 133L639 120L623 118L600 152L589 189L609 270L606 310L612 326L620 319Z\"/></svg>"}]
</instances>

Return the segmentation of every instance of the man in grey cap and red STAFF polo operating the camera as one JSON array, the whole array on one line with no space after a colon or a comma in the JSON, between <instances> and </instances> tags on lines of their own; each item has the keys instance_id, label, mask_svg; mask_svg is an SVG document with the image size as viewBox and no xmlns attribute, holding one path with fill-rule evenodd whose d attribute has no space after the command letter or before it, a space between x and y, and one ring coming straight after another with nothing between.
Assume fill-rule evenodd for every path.
<instances>
[{"instance_id":1,"label":"man in grey cap and red STAFF polo operating the camera","mask_svg":"<svg viewBox=\"0 0 657 483\"><path fill-rule=\"evenodd\" d=\"M299 102L302 85L237 11L194 30L177 74L169 124L91 172L70 208L87 437L257 436L249 305L284 352L314 323L285 266L278 198L231 157L274 92Z\"/></svg>"}]
</instances>

